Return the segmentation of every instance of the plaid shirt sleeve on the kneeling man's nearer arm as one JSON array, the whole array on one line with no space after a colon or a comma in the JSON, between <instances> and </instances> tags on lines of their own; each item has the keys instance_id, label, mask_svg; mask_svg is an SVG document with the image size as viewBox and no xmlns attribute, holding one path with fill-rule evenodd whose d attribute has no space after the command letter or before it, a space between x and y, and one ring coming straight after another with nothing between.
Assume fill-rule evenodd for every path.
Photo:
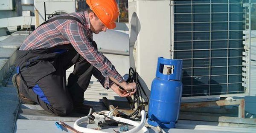
<instances>
[{"instance_id":1,"label":"plaid shirt sleeve on the kneeling man's nearer arm","mask_svg":"<svg viewBox=\"0 0 256 133\"><path fill-rule=\"evenodd\" d=\"M122 82L122 76L116 71L112 63L92 45L83 26L76 21L68 21L70 21L70 23L67 23L61 29L61 34L69 40L84 59L101 72L106 78L105 86L109 87L110 85L109 77L113 77L118 82Z\"/></svg>"}]
</instances>

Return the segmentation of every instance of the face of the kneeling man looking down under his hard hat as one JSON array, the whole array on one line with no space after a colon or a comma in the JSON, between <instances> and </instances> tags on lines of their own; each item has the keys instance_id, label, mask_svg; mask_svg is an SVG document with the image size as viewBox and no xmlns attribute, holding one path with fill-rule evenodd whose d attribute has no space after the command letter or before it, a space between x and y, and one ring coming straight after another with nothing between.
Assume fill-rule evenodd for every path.
<instances>
[{"instance_id":1,"label":"face of the kneeling man looking down under his hard hat","mask_svg":"<svg viewBox=\"0 0 256 133\"><path fill-rule=\"evenodd\" d=\"M90 18L90 30L95 33L99 34L99 32L104 31L106 32L107 27L101 22L101 20L92 12L89 13Z\"/></svg>"}]
</instances>

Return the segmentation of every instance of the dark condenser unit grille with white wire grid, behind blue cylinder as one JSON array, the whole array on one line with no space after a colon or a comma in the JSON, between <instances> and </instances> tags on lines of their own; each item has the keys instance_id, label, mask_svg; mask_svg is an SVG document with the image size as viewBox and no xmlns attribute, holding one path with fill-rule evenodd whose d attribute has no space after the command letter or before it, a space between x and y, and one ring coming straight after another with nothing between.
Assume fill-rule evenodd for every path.
<instances>
[{"instance_id":1,"label":"dark condenser unit grille with white wire grid, behind blue cylinder","mask_svg":"<svg viewBox=\"0 0 256 133\"><path fill-rule=\"evenodd\" d=\"M246 93L245 0L174 0L173 59L183 97Z\"/></svg>"}]
</instances>

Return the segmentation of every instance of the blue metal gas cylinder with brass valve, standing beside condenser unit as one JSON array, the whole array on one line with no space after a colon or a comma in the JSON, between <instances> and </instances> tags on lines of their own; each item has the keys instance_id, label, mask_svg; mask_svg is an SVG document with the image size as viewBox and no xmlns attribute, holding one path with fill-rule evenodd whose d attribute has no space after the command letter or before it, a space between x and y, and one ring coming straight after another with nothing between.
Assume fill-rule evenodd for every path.
<instances>
[{"instance_id":1,"label":"blue metal gas cylinder with brass valve, standing beside condenser unit","mask_svg":"<svg viewBox=\"0 0 256 133\"><path fill-rule=\"evenodd\" d=\"M164 65L170 65L163 74ZM151 84L148 124L162 128L175 128L180 112L182 94L182 60L158 57L156 77Z\"/></svg>"}]
</instances>

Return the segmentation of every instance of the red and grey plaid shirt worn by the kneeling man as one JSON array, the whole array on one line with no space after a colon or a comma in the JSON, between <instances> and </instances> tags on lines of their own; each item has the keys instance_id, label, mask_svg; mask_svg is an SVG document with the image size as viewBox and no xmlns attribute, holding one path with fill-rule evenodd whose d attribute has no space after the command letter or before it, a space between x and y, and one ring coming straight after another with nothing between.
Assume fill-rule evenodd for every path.
<instances>
[{"instance_id":1,"label":"red and grey plaid shirt worn by the kneeling man","mask_svg":"<svg viewBox=\"0 0 256 133\"><path fill-rule=\"evenodd\" d=\"M92 45L93 33L90 30L87 11L63 15L76 17L83 25L76 20L55 20L41 25L24 40L20 50L46 49L71 43L84 59L101 72L102 75L98 72L96 74L99 75L96 77L100 79L102 85L104 82L104 88L108 89L112 84L109 77L122 82L122 76L116 71L112 63Z\"/></svg>"}]
</instances>

